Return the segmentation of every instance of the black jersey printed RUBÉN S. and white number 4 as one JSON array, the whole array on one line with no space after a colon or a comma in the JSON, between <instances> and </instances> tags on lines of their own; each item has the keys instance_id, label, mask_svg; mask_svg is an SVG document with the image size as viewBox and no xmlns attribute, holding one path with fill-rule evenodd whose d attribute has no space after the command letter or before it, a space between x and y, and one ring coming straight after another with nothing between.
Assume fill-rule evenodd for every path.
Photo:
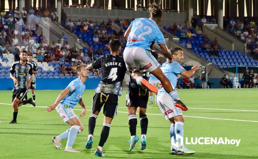
<instances>
[{"instance_id":1,"label":"black jersey printed RUB\u00c9N S. and white number 4","mask_svg":"<svg viewBox=\"0 0 258 159\"><path fill-rule=\"evenodd\" d=\"M96 93L122 95L122 82L126 73L123 56L112 56L111 54L101 56L92 63L92 67L102 70L102 79L95 90Z\"/></svg>"}]
</instances>

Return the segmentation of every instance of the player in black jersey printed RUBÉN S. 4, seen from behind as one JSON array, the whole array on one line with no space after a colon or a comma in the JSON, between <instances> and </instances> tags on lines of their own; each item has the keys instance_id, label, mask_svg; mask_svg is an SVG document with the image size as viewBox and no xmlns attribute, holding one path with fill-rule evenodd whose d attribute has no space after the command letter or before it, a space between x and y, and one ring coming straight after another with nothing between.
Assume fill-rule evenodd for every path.
<instances>
[{"instance_id":1,"label":"player in black jersey printed RUB\u00c9N S. 4, seen from behind","mask_svg":"<svg viewBox=\"0 0 258 159\"><path fill-rule=\"evenodd\" d=\"M85 145L87 149L92 147L96 119L104 105L104 124L100 135L99 146L95 151L95 155L100 157L105 156L102 153L102 147L108 138L111 121L117 114L118 97L122 95L122 82L126 73L126 64L123 56L119 56L121 45L120 40L110 40L111 53L101 56L98 60L87 66L89 71L98 73L99 71L97 69L101 68L102 70L102 79L95 90L92 100L92 113L88 125L89 136Z\"/></svg>"}]
</instances>

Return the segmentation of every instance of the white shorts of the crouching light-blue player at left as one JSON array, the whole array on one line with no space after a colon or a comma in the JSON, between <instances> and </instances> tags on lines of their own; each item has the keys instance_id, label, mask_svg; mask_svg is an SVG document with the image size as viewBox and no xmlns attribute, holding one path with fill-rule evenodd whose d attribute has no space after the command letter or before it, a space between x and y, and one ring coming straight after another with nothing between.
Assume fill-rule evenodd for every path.
<instances>
[{"instance_id":1,"label":"white shorts of the crouching light-blue player at left","mask_svg":"<svg viewBox=\"0 0 258 159\"><path fill-rule=\"evenodd\" d=\"M60 104L60 103L56 107L56 110L58 114L61 116L61 118L63 119L63 121L66 122L74 117L78 118L78 116L73 112L73 110L67 107L68 107L67 105Z\"/></svg>"}]
</instances>

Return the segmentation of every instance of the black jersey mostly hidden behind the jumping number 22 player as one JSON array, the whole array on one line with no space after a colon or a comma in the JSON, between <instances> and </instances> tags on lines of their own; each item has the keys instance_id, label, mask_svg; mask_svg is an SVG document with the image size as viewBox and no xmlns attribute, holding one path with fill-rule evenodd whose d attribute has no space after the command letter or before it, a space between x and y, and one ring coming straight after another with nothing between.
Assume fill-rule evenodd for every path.
<instances>
[{"instance_id":1,"label":"black jersey mostly hidden behind the jumping number 22 player","mask_svg":"<svg viewBox=\"0 0 258 159\"><path fill-rule=\"evenodd\" d=\"M155 50L151 50L151 54L157 59L158 58L158 53ZM149 81L150 78L150 73L147 72L142 66L140 66L139 71L141 73L141 76ZM132 79L131 75L128 79L128 87L130 88L137 88L140 87L135 80Z\"/></svg>"}]
</instances>

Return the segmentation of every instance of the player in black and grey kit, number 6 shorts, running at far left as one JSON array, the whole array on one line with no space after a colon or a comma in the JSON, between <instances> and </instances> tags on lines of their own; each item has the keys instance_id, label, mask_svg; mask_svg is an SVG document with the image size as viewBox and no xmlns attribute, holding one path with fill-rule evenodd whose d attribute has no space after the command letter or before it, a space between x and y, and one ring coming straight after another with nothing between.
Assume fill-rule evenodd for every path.
<instances>
[{"instance_id":1,"label":"player in black and grey kit, number 6 shorts, running at far left","mask_svg":"<svg viewBox=\"0 0 258 159\"><path fill-rule=\"evenodd\" d=\"M26 51L22 51L20 53L20 58L20 61L12 63L12 67L10 69L10 77L14 83L14 90L12 93L13 119L9 124L17 123L16 119L19 106L22 106L27 103L30 103L33 106L35 106L35 103L32 101L32 98L22 101L25 95L27 94L28 88L30 88L30 82L32 81L33 74L33 66L31 63L26 62ZM14 73L15 77L13 76ZM30 79L29 74L31 75Z\"/></svg>"}]
</instances>

